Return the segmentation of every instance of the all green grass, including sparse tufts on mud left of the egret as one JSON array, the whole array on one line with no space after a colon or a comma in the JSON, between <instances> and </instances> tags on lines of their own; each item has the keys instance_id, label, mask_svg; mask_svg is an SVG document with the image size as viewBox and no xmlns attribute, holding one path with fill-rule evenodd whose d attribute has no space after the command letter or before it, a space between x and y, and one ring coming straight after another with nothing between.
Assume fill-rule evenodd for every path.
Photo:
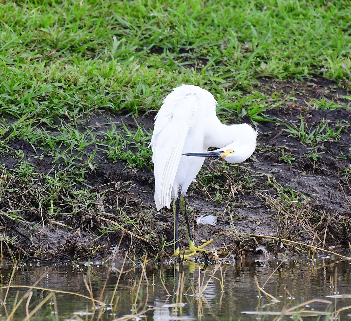
<instances>
[{"instance_id":1,"label":"all green grass, including sparse tufts on mud left of the egret","mask_svg":"<svg viewBox=\"0 0 351 321\"><path fill-rule=\"evenodd\" d=\"M177 85L210 90L222 120L254 124L270 120L267 110L289 98L257 90L258 77L318 75L351 88L349 0L2 0L0 17L0 157L14 162L1 165L1 184L18 202L7 213L13 219L35 207L51 218L91 209L97 195L87 177L104 162L152 170L151 132L138 117L154 114ZM94 123L107 112L133 115L136 125L108 116ZM339 139L339 128L326 121L289 126L312 147ZM17 141L33 151L14 148ZM34 165L46 159L45 169ZM27 203L20 196L26 190ZM223 193L218 189L216 199Z\"/></svg>"}]
</instances>

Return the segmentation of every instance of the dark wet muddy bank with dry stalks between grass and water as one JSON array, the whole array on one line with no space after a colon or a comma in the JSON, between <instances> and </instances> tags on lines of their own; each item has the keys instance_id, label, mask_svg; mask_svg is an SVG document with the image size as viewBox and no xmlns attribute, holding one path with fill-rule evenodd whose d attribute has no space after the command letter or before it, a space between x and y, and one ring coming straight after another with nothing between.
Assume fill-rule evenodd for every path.
<instances>
[{"instance_id":1,"label":"dark wet muddy bank with dry stalks between grass and water","mask_svg":"<svg viewBox=\"0 0 351 321\"><path fill-rule=\"evenodd\" d=\"M196 243L214 238L210 249L228 249L236 255L248 255L262 244L274 253L287 250L299 254L306 251L303 244L312 244L347 255L351 241L350 93L321 78L305 83L260 78L254 89L268 97L273 93L284 97L283 103L280 108L265 111L269 121L258 123L258 146L249 160L238 165L206 160L197 182L188 191L188 209L193 222L201 214L212 214L217 216L218 224L193 224ZM313 99L324 99L326 103L333 100L342 107L317 109ZM135 129L134 117L107 112L91 117L85 126L103 124L110 118ZM152 131L153 118L154 114L148 113L136 121ZM307 137L302 137L302 121ZM324 129L318 136L318 129L325 123L330 132ZM300 137L287 131L287 125L295 125ZM313 129L316 131L309 138ZM36 150L25 140L7 144L21 150L39 175L52 170L52 160L33 157ZM95 149L88 148L92 152ZM39 207L27 198L19 182L8 183L18 194L11 194L7 188L1 196L1 211L20 209L20 204L28 202L30 206L21 212L25 223L20 218L2 217L0 231L7 237L7 248L5 243L2 245L5 256L12 251L16 257L52 261L104 260L118 244L120 257L125 251L130 258L142 255L147 244L119 229L106 230L108 224L98 217L101 211L115 215L114 220L124 222L124 228L149 238L159 248L164 242L172 242L172 210L157 212L154 206L151 159L136 169L124 162L111 163L99 150L94 160L94 169L84 177L85 188L97 195L93 207L80 206L77 210L62 204L65 215L54 218L50 204ZM1 155L0 162L6 169L18 166L18 160L6 155ZM74 191L65 192L74 198ZM182 218L180 226L180 234L185 237ZM15 242L8 242L12 238ZM186 247L186 237L181 244ZM172 253L172 248L164 249L163 258Z\"/></svg>"}]
</instances>

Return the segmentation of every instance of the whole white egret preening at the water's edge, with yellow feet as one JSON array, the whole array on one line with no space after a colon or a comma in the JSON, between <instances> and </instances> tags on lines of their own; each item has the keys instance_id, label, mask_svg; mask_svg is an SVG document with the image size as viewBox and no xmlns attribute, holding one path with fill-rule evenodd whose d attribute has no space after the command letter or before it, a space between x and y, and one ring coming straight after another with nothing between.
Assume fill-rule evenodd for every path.
<instances>
[{"instance_id":1,"label":"whole white egret preening at the water's edge, with yellow feet","mask_svg":"<svg viewBox=\"0 0 351 321\"><path fill-rule=\"evenodd\" d=\"M186 222L189 249L185 259L211 243L195 246L186 213L185 194L205 157L240 163L256 148L257 130L249 124L224 125L216 115L217 101L205 89L181 85L167 95L155 117L151 138L157 210L171 208L174 199L174 255L179 256L178 217L181 208ZM219 148L208 152L210 147ZM197 156L197 157L190 157Z\"/></svg>"}]
</instances>

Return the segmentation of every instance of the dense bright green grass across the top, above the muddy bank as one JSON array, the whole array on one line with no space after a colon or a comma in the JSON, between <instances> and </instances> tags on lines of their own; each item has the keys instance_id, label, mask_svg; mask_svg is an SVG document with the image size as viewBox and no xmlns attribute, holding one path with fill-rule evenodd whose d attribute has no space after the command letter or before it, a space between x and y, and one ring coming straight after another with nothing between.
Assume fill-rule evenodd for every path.
<instances>
[{"instance_id":1,"label":"dense bright green grass across the top, above the muddy bank","mask_svg":"<svg viewBox=\"0 0 351 321\"><path fill-rule=\"evenodd\" d=\"M349 79L350 13L349 1L7 2L3 114L138 114L180 83L228 103L257 76Z\"/></svg>"}]
</instances>

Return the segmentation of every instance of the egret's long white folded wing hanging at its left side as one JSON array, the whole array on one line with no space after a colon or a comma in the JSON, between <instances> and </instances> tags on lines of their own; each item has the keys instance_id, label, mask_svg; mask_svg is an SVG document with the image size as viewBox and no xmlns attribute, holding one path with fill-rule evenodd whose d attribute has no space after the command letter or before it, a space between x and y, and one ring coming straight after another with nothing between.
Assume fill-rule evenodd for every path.
<instances>
[{"instance_id":1,"label":"egret's long white folded wing hanging at its left side","mask_svg":"<svg viewBox=\"0 0 351 321\"><path fill-rule=\"evenodd\" d=\"M171 207L172 189L184 142L196 120L196 99L196 93L174 90L166 97L155 117L150 146L157 210Z\"/></svg>"}]
</instances>

